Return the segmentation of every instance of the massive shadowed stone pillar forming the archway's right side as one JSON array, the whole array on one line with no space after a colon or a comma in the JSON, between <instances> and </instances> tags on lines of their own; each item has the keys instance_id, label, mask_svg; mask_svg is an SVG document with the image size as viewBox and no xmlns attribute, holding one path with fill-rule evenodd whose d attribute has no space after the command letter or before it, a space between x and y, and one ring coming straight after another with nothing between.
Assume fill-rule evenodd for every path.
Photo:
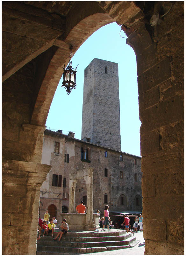
<instances>
[{"instance_id":1,"label":"massive shadowed stone pillar forming the archway's right side","mask_svg":"<svg viewBox=\"0 0 186 256\"><path fill-rule=\"evenodd\" d=\"M145 254L184 250L183 8L173 9L156 36L147 24L124 28L137 59Z\"/></svg>"}]
</instances>

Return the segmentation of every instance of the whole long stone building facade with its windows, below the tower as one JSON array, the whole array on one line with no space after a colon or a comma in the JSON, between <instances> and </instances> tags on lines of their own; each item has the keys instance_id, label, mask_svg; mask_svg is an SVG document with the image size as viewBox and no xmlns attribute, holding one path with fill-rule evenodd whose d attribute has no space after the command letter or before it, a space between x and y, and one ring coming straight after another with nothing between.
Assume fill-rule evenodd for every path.
<instances>
[{"instance_id":1,"label":"whole long stone building facade with its windows, below the tower","mask_svg":"<svg viewBox=\"0 0 186 256\"><path fill-rule=\"evenodd\" d=\"M57 145L57 147L56 147ZM69 174L93 168L93 209L109 211L142 211L141 157L95 145L74 138L74 133L64 135L46 130L44 134L42 163L50 164L51 171L40 189L40 216L46 209L51 217L60 218L68 212ZM78 180L75 205L81 200L86 205L85 180Z\"/></svg>"}]
</instances>

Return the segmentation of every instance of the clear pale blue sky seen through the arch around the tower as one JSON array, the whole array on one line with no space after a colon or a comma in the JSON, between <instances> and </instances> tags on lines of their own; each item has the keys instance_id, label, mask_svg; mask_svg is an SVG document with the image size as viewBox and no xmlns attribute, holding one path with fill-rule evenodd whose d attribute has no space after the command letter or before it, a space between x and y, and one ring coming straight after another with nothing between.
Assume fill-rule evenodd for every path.
<instances>
[{"instance_id":1,"label":"clear pale blue sky seen through the arch around the tower","mask_svg":"<svg viewBox=\"0 0 186 256\"><path fill-rule=\"evenodd\" d=\"M140 156L140 119L138 105L138 86L136 55L126 44L125 33L117 23L108 24L92 34L72 58L72 67L77 67L76 89L67 95L60 80L47 117L47 129L62 130L63 134L75 132L81 140L82 101L84 69L94 59L118 63L121 151ZM61 74L63 69L61 68ZM105 92L106 93L106 92Z\"/></svg>"}]
</instances>

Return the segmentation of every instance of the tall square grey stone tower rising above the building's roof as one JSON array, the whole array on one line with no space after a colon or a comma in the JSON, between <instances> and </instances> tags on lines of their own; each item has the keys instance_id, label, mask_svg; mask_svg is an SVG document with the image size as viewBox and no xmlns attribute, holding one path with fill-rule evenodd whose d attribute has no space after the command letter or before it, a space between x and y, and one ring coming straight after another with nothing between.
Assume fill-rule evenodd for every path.
<instances>
[{"instance_id":1,"label":"tall square grey stone tower rising above the building's roof","mask_svg":"<svg viewBox=\"0 0 186 256\"><path fill-rule=\"evenodd\" d=\"M118 63L95 58L84 70L82 140L121 150Z\"/></svg>"}]
</instances>

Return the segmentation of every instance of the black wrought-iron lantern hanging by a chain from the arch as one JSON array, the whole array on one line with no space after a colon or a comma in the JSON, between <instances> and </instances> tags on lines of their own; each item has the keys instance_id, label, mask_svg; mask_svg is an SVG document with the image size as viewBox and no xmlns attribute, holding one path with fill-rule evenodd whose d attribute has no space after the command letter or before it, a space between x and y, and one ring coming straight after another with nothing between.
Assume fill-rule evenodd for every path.
<instances>
[{"instance_id":1,"label":"black wrought-iron lantern hanging by a chain from the arch","mask_svg":"<svg viewBox=\"0 0 186 256\"><path fill-rule=\"evenodd\" d=\"M69 56L69 65L65 69L65 64L63 68L63 83L61 87L65 87L67 90L67 94L69 95L70 92L72 92L72 89L75 89L76 83L75 83L75 77L76 77L76 68L72 68L72 46L69 48L70 49L70 56ZM78 66L78 65L77 65Z\"/></svg>"}]
</instances>

